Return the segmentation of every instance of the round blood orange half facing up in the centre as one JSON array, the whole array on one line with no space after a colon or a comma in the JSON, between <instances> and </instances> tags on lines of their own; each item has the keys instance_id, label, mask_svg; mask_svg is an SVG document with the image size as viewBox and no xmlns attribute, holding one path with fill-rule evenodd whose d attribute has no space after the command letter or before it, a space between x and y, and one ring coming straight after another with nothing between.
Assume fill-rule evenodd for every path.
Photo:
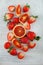
<instances>
[{"instance_id":1,"label":"round blood orange half facing up in the centre","mask_svg":"<svg viewBox=\"0 0 43 65\"><path fill-rule=\"evenodd\" d=\"M18 24L13 28L13 33L16 38L22 38L25 36L26 30L24 26L22 26L21 24Z\"/></svg>"}]
</instances>

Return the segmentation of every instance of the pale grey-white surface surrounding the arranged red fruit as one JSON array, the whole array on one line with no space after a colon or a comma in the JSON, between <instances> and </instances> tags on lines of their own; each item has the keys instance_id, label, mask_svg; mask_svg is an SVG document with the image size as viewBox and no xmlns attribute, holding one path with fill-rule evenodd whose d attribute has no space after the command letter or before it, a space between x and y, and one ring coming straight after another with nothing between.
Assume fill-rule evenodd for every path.
<instances>
[{"instance_id":1,"label":"pale grey-white surface surrounding the arranged red fruit","mask_svg":"<svg viewBox=\"0 0 43 65\"><path fill-rule=\"evenodd\" d=\"M4 49L4 42L7 41L8 29L3 20L7 7L9 5L24 5L29 3L31 6L30 12L33 15L38 15L37 22L32 24L32 31L41 36L40 41L36 42L36 48L29 50L23 60L17 57L10 56ZM0 65L43 65L43 0L0 0Z\"/></svg>"}]
</instances>

